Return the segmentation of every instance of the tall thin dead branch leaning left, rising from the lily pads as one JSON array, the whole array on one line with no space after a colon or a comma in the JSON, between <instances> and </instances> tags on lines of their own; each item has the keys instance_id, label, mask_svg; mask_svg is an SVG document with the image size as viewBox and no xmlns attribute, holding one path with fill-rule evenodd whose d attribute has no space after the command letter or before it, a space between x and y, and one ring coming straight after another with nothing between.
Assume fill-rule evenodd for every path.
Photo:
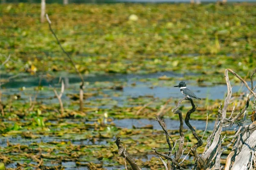
<instances>
[{"instance_id":1,"label":"tall thin dead branch leaning left, rising from the lily pads","mask_svg":"<svg viewBox=\"0 0 256 170\"><path fill-rule=\"evenodd\" d=\"M59 45L60 48L61 48L61 50L62 50L62 51L64 52L64 54L66 54L67 57L70 59L70 62L72 63L73 67L74 67L75 70L76 70L76 73L79 75L79 77L80 77L80 79L81 79L81 85L80 85L80 91L79 91L79 101L80 101L80 108L79 108L79 110L80 110L80 111L83 111L84 79L83 79L83 77L82 77L80 71L76 68L75 62L74 62L73 59L70 57L70 55L64 50L64 48L63 48L62 45L61 45L61 42L58 40L58 37L56 36L56 34L54 33L54 31L52 30L52 26L51 26L51 23L52 23L52 22L50 21L50 19L49 19L49 17L48 17L48 14L46 14L45 16L46 16L46 19L47 19L47 21L48 21L48 23L49 23L49 29L50 29L50 31L51 31L52 34L54 35L56 41L58 42L58 45Z\"/></svg>"}]
</instances>

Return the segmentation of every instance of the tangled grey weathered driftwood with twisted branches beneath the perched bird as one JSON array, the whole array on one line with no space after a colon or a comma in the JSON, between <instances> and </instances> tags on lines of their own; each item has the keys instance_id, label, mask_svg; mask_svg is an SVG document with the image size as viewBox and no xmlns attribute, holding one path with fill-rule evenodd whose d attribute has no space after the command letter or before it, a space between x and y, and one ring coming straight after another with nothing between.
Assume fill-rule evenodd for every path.
<instances>
[{"instance_id":1,"label":"tangled grey weathered driftwood with twisted branches beneath the perched bird","mask_svg":"<svg viewBox=\"0 0 256 170\"><path fill-rule=\"evenodd\" d=\"M228 72L236 76L241 82L244 83L244 85L248 88L250 91L249 95L247 96L247 101L244 106L244 108L236 115L233 117L234 111L235 111L235 104L233 104L233 110L231 112L231 116L229 118L226 118L227 115L227 108L230 104L230 99L232 96L232 88L230 85L230 80L228 77ZM253 71L253 74L255 74L256 68ZM182 161L179 163L179 159L183 155L184 152L184 133L183 133L183 118L181 111L178 110L181 102L183 100L189 100L192 105L192 109L190 109L186 113L186 118L185 118L185 123L191 130L193 136L195 139L197 139L197 143L194 144L192 147L190 147L190 150L192 151L193 155L195 156L195 165L193 167L193 170L221 170L223 167L221 166L221 155L222 153L227 150L230 146L232 147L232 150L230 151L229 155L227 156L226 160L226 165L224 170L253 170L253 164L256 164L256 154L255 154L255 148L256 148L256 121L252 121L253 123L250 125L245 126L243 124L243 121L246 120L247 116L247 108L249 107L250 103L250 98L253 96L254 97L254 102L253 102L253 111L256 109L256 94L254 90L256 89L256 86L253 87L253 74L251 75L251 88L247 85L247 82L245 82L244 79L242 79L238 74L236 74L234 71L231 69L226 69L225 70L225 80L227 83L227 97L224 101L224 105L222 107L219 107L218 109L218 117L215 121L214 129L212 133L208 136L207 138L207 144L206 147L204 148L203 154L199 155L197 153L197 148L202 145L202 139L198 136L198 134L195 132L195 129L190 125L189 119L190 115L195 112L196 106L193 102L192 99L189 98L182 98L179 100L177 103L176 107L172 109L172 112L175 114L179 115L180 119L180 140L179 140L179 146L177 152L175 151L175 156L174 159L171 157L172 156L172 151L175 150L175 144L170 137L168 130L166 129L163 121L161 121L157 116L157 121L159 125L162 127L163 131L165 132L166 135L166 141L169 145L169 153L168 155L164 153L160 153L156 150L156 148L152 148L154 152L167 159L167 164L166 162L160 157L160 160L163 162L165 169L167 170L184 170L183 167L181 167L181 163L183 160L186 158L186 156L183 158ZM162 110L161 110L162 112ZM243 120L238 121L241 116L244 115ZM252 115L253 116L253 115ZM236 133L234 136L228 136L228 138L232 138L231 142L226 144L225 146L222 145L224 142L224 139L226 136L222 136L221 132L224 127L232 127L234 124L237 124L236 128ZM169 140L172 140L171 141ZM172 166L170 166L170 164ZM254 167L255 170L255 167Z\"/></svg>"}]
</instances>

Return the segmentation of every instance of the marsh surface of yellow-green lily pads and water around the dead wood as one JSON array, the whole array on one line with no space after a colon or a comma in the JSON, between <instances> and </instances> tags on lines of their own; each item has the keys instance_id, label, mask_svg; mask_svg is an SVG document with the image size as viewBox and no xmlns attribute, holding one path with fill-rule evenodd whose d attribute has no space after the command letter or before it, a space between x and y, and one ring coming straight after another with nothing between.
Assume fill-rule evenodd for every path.
<instances>
[{"instance_id":1,"label":"marsh surface of yellow-green lily pads and water around the dead wood","mask_svg":"<svg viewBox=\"0 0 256 170\"><path fill-rule=\"evenodd\" d=\"M47 4L52 28L86 78L84 108L78 111L80 80L48 24L40 23L40 6L1 4L0 11L0 61L12 55L1 82L18 75L1 86L0 170L124 169L116 136L122 136L140 167L162 168L151 148L168 146L154 115L165 108L166 126L179 139L178 115L171 109L183 96L171 87L189 80L203 99L191 117L202 136L206 113L212 130L226 93L224 69L246 76L256 65L255 4ZM38 74L45 75L41 85ZM63 110L49 87L59 94L61 79ZM237 84L233 91L239 91L230 100L236 113L247 94ZM189 103L179 109L188 110ZM184 128L190 147L196 141ZM183 167L189 169L194 161L190 153Z\"/></svg>"}]
</instances>

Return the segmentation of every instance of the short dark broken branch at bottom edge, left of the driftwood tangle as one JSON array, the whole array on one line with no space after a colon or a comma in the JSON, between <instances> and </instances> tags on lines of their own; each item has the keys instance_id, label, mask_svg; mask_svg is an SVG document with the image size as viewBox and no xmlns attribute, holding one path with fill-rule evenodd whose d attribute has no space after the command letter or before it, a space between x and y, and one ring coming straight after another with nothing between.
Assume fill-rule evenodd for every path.
<instances>
[{"instance_id":1,"label":"short dark broken branch at bottom edge, left of the driftwood tangle","mask_svg":"<svg viewBox=\"0 0 256 170\"><path fill-rule=\"evenodd\" d=\"M129 162L133 170L141 170L134 158L125 150L125 147L122 146L119 136L116 138L116 146L118 147L118 153Z\"/></svg>"}]
</instances>

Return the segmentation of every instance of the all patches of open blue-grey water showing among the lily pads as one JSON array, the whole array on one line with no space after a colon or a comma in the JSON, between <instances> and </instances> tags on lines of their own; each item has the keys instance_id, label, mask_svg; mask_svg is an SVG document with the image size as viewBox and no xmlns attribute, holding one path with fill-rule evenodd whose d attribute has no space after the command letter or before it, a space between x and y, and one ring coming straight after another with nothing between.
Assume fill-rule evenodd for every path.
<instances>
[{"instance_id":1,"label":"all patches of open blue-grey water showing among the lily pads","mask_svg":"<svg viewBox=\"0 0 256 170\"><path fill-rule=\"evenodd\" d=\"M174 80L166 81L166 80L157 80L158 77L166 75L168 77L172 77ZM9 75L3 75L5 77L8 77ZM2 78L3 78L2 76ZM71 104L70 97L67 94L77 94L79 92L79 83L80 79L77 76L69 75L62 73L61 77L65 80L65 84L67 85L67 88L64 91L64 95L62 96L62 100L64 102L64 105L67 107ZM138 103L132 104L131 102L128 102L128 99L136 99L141 96L143 96L143 99L152 100L153 98L157 98L158 100L166 101L166 99L172 97L173 99L177 100L183 97L183 95L180 93L179 88L173 87L174 85L177 85L179 81L175 81L175 79L178 79L180 77L183 77L182 74L174 74L172 72L163 72L163 73L155 73L155 74L147 74L147 75L135 75L135 74L128 74L128 75L122 75L122 74L106 74L106 75L88 75L85 78L86 82L86 88L84 90L85 93L95 93L96 95L90 96L88 99L84 101L86 107L90 108L113 108L113 107L129 107L134 105L140 105ZM148 79L148 80L147 80ZM153 79L153 80L152 80ZM142 81L143 80L143 81ZM34 97L36 91L34 90L35 87L38 87L38 77L32 77L31 75L22 75L18 77L17 79L12 79L12 81L6 83L2 86L2 92L3 92L3 103L7 103L10 100L14 100L13 96L19 94L20 99L24 103L29 102L29 97ZM48 81L47 79L43 79L41 85L45 88L45 90L40 91L38 94L38 101L47 104L47 103L58 103L58 100L53 98L54 94L52 92L52 89L48 89L49 85L57 87L57 91L60 91L60 85L58 84L59 78L56 77L55 79ZM134 83L136 84L134 86ZM116 90L114 86L122 85L123 89ZM193 81L187 82L187 85L189 88L195 92L195 94L198 97L201 97L202 99L206 98L207 94L209 96L209 99L223 99L225 96L225 93L227 91L226 85L209 85L208 87L199 87L197 83ZM25 87L26 89L24 91L21 91L20 88ZM233 92L235 91L246 91L246 88L241 88L240 85L235 85L232 88ZM204 101L203 101L204 102ZM170 102L170 105L174 105L175 103L173 101ZM141 105L140 105L141 106ZM113 119L113 118L112 118ZM20 120L27 121L27 120ZM9 121L7 119L4 120L5 123L14 124L13 121ZM89 122L85 119L63 119L61 123L67 124L67 126L59 127L58 124L60 123L59 120L55 121L46 121L46 127L49 127L51 130L51 133L49 135L44 134L38 134L36 133L36 130L33 131L33 129L29 130L32 133L34 132L38 138L36 139L26 139L21 136L20 133L17 133L16 135L11 135L7 137L1 137L0 138L0 147L5 148L7 139L9 142L13 145L26 145L29 148L34 147L34 144L37 144L38 147L47 145L49 148L56 147L55 144L51 144L51 142L70 142L73 145L79 145L81 147L84 146L94 146L94 145L102 145L105 147L109 147L110 142L114 142L116 136L111 136L108 139L98 139L97 137L95 140L90 139L91 137L88 137L88 131L94 129L93 124L96 122L96 120L90 120ZM165 118L164 119L166 128L172 132L172 130L179 129L180 122L178 120L173 120L172 118ZM248 121L247 121L248 122ZM111 123L114 123L113 126L121 127L121 128L128 128L133 129L134 127L140 128L144 127L146 125L152 125L153 130L162 130L160 125L157 121L154 119L113 119L113 122L108 122L107 124L111 125ZM203 120L190 120L190 123L193 127L195 127L196 130L204 130L206 126L206 121ZM86 126L88 127L87 130L82 130L81 133L64 133L62 136L58 136L55 133L60 133L61 131L67 132L65 130L69 129L69 124L72 124L72 127L77 126ZM212 130L215 122L209 121L207 125L207 130ZM91 126L92 125L92 126ZM74 128L73 127L73 128ZM236 125L234 125L230 129L234 129ZM38 127L39 128L39 127ZM184 129L188 129L186 124L183 125ZM26 129L22 129L21 131L24 131ZM225 130L225 129L224 129ZM72 131L72 130L71 130ZM53 133L54 132L54 133ZM151 133L151 130L146 130L146 133ZM104 133L104 132L103 132ZM114 132L113 132L114 133ZM98 132L93 132L92 134L98 134ZM96 136L95 135L95 136ZM136 138L136 137L135 137ZM136 139L134 139L136 140ZM57 151L56 151L57 152ZM61 149L58 150L58 152L62 152ZM16 153L15 153L16 154ZM139 154L140 155L140 154ZM140 157L143 161L147 161L151 159L151 157L154 157L156 155L148 155L147 157ZM80 160L86 160L86 157L80 156ZM27 159L22 159L19 162L24 163L27 161ZM95 158L95 160L92 160L94 163L99 164L100 161ZM16 167L17 161L14 161L14 163L8 164L7 167ZM36 162L31 161L31 164L37 164ZM88 163L86 161L81 163ZM52 166L51 160L44 160L44 164L48 166ZM73 169L89 169L87 167L80 167L76 165L75 161L67 160L62 161L61 165L65 167L67 170L73 170ZM103 167L108 170L113 169L124 169L124 166L116 166L116 162L110 162L110 161L103 161Z\"/></svg>"}]
</instances>

